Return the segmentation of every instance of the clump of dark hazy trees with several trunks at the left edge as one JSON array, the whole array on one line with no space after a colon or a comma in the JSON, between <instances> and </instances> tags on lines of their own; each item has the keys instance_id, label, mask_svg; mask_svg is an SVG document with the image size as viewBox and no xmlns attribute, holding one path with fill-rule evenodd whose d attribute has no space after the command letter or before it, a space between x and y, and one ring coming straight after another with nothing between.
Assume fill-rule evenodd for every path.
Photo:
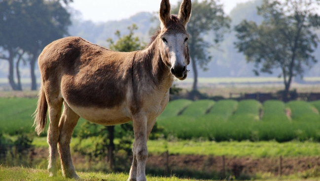
<instances>
[{"instance_id":1,"label":"clump of dark hazy trees with several trunks at the left edge","mask_svg":"<svg viewBox=\"0 0 320 181\"><path fill-rule=\"evenodd\" d=\"M72 0L64 0L68 3ZM32 90L36 90L35 65L40 50L47 44L68 34L70 14L60 0L1 0L0 46L2 59L9 61L9 83L13 90L22 90L14 80L14 62L28 53ZM19 59L20 58L20 59ZM18 65L18 63L17 63ZM16 72L19 67L16 66Z\"/></svg>"}]
</instances>

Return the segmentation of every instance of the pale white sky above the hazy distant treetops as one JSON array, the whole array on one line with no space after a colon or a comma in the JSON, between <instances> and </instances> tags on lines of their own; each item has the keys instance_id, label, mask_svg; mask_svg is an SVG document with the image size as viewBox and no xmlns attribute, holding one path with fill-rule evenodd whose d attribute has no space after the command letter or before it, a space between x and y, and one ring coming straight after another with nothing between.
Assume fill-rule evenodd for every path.
<instances>
[{"instance_id":1,"label":"pale white sky above the hazy distant treetops","mask_svg":"<svg viewBox=\"0 0 320 181\"><path fill-rule=\"evenodd\" d=\"M179 0L170 0L176 5ZM201 0L199 0L201 1ZM229 14L237 3L249 0L219 0L224 5L224 12ZM107 22L129 18L138 12L159 11L161 0L73 0L70 6L82 14L83 20Z\"/></svg>"}]
</instances>

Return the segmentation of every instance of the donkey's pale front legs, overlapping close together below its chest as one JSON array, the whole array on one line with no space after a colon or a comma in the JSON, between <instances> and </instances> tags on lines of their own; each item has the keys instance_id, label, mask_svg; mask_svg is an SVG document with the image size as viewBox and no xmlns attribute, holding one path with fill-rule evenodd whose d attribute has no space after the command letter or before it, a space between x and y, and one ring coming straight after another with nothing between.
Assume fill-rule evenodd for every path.
<instances>
[{"instance_id":1,"label":"donkey's pale front legs, overlapping close together below its chest","mask_svg":"<svg viewBox=\"0 0 320 181\"><path fill-rule=\"evenodd\" d=\"M146 181L145 160L148 157L147 142L147 119L144 114L133 117L133 130L135 142L133 144L134 160L132 162L129 181ZM137 178L135 178L135 176Z\"/></svg>"}]
</instances>

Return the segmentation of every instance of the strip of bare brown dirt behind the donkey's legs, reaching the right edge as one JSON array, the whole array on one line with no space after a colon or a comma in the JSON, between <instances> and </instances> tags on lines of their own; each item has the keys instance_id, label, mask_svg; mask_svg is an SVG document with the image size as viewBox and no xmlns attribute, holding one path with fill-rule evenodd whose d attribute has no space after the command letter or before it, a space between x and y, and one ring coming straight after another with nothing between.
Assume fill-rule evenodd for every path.
<instances>
[{"instance_id":1,"label":"strip of bare brown dirt behind the donkey's legs, reaching the right edge","mask_svg":"<svg viewBox=\"0 0 320 181\"><path fill-rule=\"evenodd\" d=\"M35 149L33 156L36 159L48 158L47 148ZM75 156L76 155L76 156ZM223 161L224 159L224 161ZM86 158L78 154L72 154L72 160L76 167L88 165ZM168 160L168 162L167 162ZM94 163L93 163L94 164ZM197 170L205 172L222 172L223 164L225 172L233 175L254 175L256 173L271 173L279 175L280 157L278 158L251 158L251 157L222 157L205 155L161 155L149 154L146 161L147 167L169 170ZM167 168L168 166L168 168ZM282 157L282 174L292 175L305 171L319 169L320 156L317 157Z\"/></svg>"}]
</instances>

